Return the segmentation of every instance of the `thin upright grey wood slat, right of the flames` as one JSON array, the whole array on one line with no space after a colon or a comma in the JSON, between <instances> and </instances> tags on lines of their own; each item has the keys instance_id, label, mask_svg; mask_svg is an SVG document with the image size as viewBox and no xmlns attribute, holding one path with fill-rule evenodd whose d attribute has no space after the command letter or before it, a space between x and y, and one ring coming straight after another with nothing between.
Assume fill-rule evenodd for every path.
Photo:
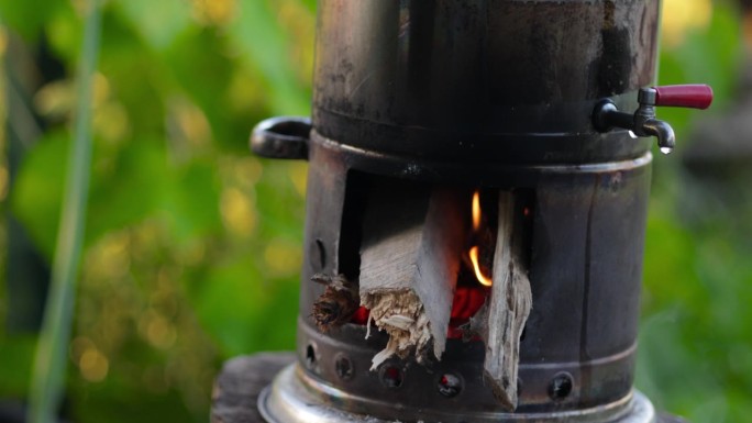
<instances>
[{"instance_id":1,"label":"thin upright grey wood slat, right of the flames","mask_svg":"<svg viewBox=\"0 0 752 423\"><path fill-rule=\"evenodd\" d=\"M486 319L484 379L509 410L517 408L520 335L532 308L528 269L523 260L522 224L516 222L515 194L499 193L499 225L494 254L494 286L478 318ZM474 319L473 322L476 322Z\"/></svg>"}]
</instances>

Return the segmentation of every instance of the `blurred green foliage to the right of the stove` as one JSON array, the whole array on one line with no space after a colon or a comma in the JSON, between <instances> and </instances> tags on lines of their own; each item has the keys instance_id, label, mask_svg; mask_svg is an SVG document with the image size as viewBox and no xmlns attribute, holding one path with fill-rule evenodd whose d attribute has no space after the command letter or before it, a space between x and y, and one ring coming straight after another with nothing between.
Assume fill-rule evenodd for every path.
<instances>
[{"instance_id":1,"label":"blurred green foliage to the right of the stove","mask_svg":"<svg viewBox=\"0 0 752 423\"><path fill-rule=\"evenodd\" d=\"M749 111L738 107L752 96L740 86L740 74L750 73L743 56L751 46L744 46L733 3L717 1L710 10L708 0L667 0L664 23L682 16L688 24L681 40L663 40L660 82L707 82L716 93L708 112L660 110L676 129L677 149L687 151L690 141L729 136L693 137L709 120ZM747 143L739 127L726 130L741 136L739 146ZM637 383L659 409L692 422L752 419L749 159L740 149L740 169L708 166L699 177L678 157L659 154L654 160Z\"/></svg>"}]
</instances>

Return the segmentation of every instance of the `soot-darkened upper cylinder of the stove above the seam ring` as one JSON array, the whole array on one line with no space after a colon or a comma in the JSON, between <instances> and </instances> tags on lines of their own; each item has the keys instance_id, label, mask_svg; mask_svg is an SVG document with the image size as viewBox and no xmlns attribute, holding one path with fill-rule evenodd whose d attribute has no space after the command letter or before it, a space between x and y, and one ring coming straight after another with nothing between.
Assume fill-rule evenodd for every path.
<instances>
[{"instance_id":1,"label":"soot-darkened upper cylinder of the stove above the seam ring","mask_svg":"<svg viewBox=\"0 0 752 423\"><path fill-rule=\"evenodd\" d=\"M601 135L590 114L605 97L635 109L637 90L654 78L659 9L659 0L323 0L313 125L406 156L640 156L644 140Z\"/></svg>"}]
</instances>

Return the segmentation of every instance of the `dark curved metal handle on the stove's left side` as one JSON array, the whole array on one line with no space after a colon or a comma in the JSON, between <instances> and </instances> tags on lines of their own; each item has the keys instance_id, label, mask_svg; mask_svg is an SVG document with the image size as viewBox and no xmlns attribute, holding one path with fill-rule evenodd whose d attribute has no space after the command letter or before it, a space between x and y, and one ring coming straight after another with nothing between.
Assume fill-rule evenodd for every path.
<instances>
[{"instance_id":1,"label":"dark curved metal handle on the stove's left side","mask_svg":"<svg viewBox=\"0 0 752 423\"><path fill-rule=\"evenodd\" d=\"M308 159L310 132L309 118L266 119L251 132L251 151L268 158Z\"/></svg>"}]
</instances>

